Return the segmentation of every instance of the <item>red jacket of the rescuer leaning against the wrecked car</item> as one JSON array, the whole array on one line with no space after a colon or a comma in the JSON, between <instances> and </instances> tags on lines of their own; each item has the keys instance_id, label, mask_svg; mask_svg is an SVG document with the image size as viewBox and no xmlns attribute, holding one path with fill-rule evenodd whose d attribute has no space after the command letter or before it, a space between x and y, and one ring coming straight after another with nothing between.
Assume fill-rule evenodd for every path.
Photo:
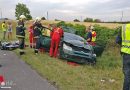
<instances>
[{"instance_id":1,"label":"red jacket of the rescuer leaning against the wrecked car","mask_svg":"<svg viewBox=\"0 0 130 90\"><path fill-rule=\"evenodd\" d=\"M53 28L53 31L51 32L51 38L52 39L60 39L63 36L63 30L62 28Z\"/></svg>"}]
</instances>

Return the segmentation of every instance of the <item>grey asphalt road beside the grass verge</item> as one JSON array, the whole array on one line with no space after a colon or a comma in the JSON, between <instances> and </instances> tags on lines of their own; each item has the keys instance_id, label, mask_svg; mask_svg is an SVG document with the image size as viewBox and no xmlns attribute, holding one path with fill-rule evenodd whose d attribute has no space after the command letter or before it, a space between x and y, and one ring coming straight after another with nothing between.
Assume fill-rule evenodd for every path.
<instances>
[{"instance_id":1,"label":"grey asphalt road beside the grass verge","mask_svg":"<svg viewBox=\"0 0 130 90\"><path fill-rule=\"evenodd\" d=\"M0 75L5 78L3 88L6 88L0 90L57 90L20 60L14 52L0 50L0 64L2 64Z\"/></svg>"}]
</instances>

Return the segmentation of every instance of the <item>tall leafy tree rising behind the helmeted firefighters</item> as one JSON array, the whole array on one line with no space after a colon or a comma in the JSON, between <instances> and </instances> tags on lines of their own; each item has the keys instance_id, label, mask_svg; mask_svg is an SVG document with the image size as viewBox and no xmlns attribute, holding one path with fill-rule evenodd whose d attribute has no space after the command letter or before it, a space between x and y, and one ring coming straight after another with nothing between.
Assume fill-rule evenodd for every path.
<instances>
[{"instance_id":1,"label":"tall leafy tree rising behind the helmeted firefighters","mask_svg":"<svg viewBox=\"0 0 130 90\"><path fill-rule=\"evenodd\" d=\"M19 19L20 15L25 15L27 20L32 19L29 9L23 3L18 3L15 8L16 19Z\"/></svg>"}]
</instances>

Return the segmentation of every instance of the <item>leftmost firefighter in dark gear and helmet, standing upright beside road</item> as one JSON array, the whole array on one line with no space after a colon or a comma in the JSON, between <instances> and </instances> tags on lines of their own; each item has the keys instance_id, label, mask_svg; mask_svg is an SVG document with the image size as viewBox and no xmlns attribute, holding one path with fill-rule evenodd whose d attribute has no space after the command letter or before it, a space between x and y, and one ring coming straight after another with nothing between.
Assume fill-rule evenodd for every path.
<instances>
[{"instance_id":1,"label":"leftmost firefighter in dark gear and helmet, standing upright beside road","mask_svg":"<svg viewBox=\"0 0 130 90\"><path fill-rule=\"evenodd\" d=\"M24 15L20 15L19 21L18 21L18 24L17 24L17 27L16 27L16 37L19 40L20 55L25 54L25 52L24 52L25 29L26 29L25 26L24 26L25 19L26 19L26 17Z\"/></svg>"}]
</instances>

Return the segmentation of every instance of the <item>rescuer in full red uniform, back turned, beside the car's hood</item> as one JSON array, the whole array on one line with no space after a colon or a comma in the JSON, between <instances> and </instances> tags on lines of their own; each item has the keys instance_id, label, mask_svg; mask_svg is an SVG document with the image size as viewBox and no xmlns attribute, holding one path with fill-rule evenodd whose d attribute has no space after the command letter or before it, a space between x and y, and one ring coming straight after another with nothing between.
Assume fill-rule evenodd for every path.
<instances>
[{"instance_id":1,"label":"rescuer in full red uniform, back turned, beside the car's hood","mask_svg":"<svg viewBox=\"0 0 130 90\"><path fill-rule=\"evenodd\" d=\"M51 32L51 47L50 47L50 56L57 57L58 47L61 38L63 37L63 30L61 27L53 27Z\"/></svg>"}]
</instances>

